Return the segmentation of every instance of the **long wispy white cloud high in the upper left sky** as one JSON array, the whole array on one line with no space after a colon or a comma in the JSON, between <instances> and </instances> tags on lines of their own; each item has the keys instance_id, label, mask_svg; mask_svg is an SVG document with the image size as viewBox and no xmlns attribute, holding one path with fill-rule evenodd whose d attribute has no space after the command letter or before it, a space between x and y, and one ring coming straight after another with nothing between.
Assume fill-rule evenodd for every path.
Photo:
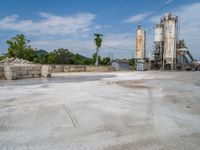
<instances>
[{"instance_id":1,"label":"long wispy white cloud high in the upper left sky","mask_svg":"<svg viewBox=\"0 0 200 150\"><path fill-rule=\"evenodd\" d=\"M45 12L39 13L38 21L21 20L18 15L0 19L0 29L20 31L32 35L67 35L83 33L90 30L95 15L79 13L72 16L57 16Z\"/></svg>"}]
</instances>

